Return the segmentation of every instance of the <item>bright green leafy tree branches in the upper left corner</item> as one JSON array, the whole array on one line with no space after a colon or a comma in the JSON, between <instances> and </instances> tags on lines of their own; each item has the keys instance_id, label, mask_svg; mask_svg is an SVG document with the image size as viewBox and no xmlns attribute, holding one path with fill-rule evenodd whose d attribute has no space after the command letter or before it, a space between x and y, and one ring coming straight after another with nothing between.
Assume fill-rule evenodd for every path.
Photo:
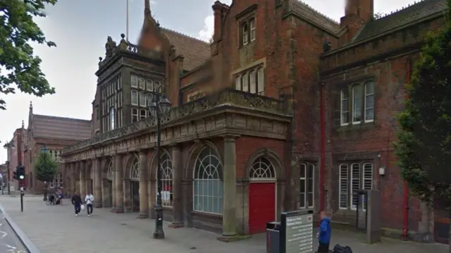
<instances>
[{"instance_id":1,"label":"bright green leafy tree branches in the upper left corner","mask_svg":"<svg viewBox=\"0 0 451 253\"><path fill-rule=\"evenodd\" d=\"M45 4L58 0L0 0L0 94L15 93L17 89L42 97L55 90L41 71L41 58L33 55L30 42L56 47L47 41L33 17L45 17ZM6 109L0 98L0 109Z\"/></svg>"}]
</instances>

